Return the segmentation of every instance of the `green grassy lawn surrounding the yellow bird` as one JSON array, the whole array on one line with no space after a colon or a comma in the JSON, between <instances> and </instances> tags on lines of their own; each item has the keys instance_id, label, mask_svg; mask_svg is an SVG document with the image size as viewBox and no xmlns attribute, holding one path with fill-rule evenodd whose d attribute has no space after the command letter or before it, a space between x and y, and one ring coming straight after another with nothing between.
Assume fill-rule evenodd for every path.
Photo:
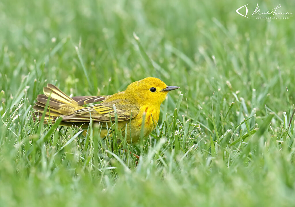
<instances>
[{"instance_id":1,"label":"green grassy lawn surrounding the yellow bird","mask_svg":"<svg viewBox=\"0 0 295 207\"><path fill-rule=\"evenodd\" d=\"M248 3L0 1L0 206L294 206L295 17L235 12ZM105 95L150 76L181 88L123 142L137 165L94 125L32 120L47 83Z\"/></svg>"}]
</instances>

